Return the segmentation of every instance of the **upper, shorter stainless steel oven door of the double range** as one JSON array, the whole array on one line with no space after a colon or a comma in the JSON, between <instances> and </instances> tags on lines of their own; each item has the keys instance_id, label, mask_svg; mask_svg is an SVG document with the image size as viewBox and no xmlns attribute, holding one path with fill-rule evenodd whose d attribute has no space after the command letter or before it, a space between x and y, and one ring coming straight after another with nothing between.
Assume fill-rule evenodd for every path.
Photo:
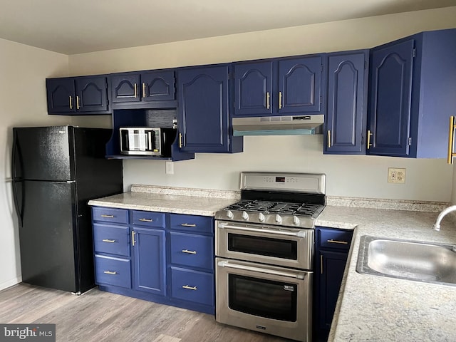
<instances>
[{"instance_id":1,"label":"upper, shorter stainless steel oven door of the double range","mask_svg":"<svg viewBox=\"0 0 456 342\"><path fill-rule=\"evenodd\" d=\"M217 257L312 269L314 229L216 221L215 241Z\"/></svg>"}]
</instances>

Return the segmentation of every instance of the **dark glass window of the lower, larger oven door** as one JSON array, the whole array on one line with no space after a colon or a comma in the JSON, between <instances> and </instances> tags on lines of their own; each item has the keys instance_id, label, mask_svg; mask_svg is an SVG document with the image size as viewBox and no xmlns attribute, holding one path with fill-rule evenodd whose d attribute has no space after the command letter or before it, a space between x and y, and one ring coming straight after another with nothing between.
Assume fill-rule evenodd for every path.
<instances>
[{"instance_id":1,"label":"dark glass window of the lower, larger oven door","mask_svg":"<svg viewBox=\"0 0 456 342\"><path fill-rule=\"evenodd\" d=\"M296 322L296 284L228 274L228 286L230 309Z\"/></svg>"}]
</instances>

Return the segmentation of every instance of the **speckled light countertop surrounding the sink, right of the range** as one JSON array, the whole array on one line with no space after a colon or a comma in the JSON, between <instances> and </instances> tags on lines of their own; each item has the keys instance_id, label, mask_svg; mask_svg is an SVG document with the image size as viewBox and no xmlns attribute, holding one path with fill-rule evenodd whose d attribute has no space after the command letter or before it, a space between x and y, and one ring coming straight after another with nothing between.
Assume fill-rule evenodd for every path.
<instances>
[{"instance_id":1,"label":"speckled light countertop surrounding the sink, right of the range","mask_svg":"<svg viewBox=\"0 0 456 342\"><path fill-rule=\"evenodd\" d=\"M360 237L456 244L450 217L437 212L327 206L316 224L355 229L328 341L456 341L456 286L356 272Z\"/></svg>"}]
</instances>

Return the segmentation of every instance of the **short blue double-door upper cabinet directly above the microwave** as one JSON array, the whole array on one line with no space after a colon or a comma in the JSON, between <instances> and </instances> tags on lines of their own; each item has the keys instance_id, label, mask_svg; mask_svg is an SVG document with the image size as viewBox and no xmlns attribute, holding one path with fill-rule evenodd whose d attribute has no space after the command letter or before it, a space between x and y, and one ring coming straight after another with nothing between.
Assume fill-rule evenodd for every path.
<instances>
[{"instance_id":1,"label":"short blue double-door upper cabinet directly above the microwave","mask_svg":"<svg viewBox=\"0 0 456 342\"><path fill-rule=\"evenodd\" d=\"M110 84L115 105L175 100L175 72L172 70L117 73L110 76ZM140 105L148 107L150 104Z\"/></svg>"}]
</instances>

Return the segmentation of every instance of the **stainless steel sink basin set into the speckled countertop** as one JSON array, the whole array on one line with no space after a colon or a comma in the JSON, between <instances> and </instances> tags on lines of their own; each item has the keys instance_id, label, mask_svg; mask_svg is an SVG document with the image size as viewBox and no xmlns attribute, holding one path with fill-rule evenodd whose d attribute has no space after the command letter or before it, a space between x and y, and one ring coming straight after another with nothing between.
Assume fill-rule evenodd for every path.
<instances>
[{"instance_id":1,"label":"stainless steel sink basin set into the speckled countertop","mask_svg":"<svg viewBox=\"0 0 456 342\"><path fill-rule=\"evenodd\" d=\"M453 245L361 237L356 271L363 274L456 285Z\"/></svg>"}]
</instances>

